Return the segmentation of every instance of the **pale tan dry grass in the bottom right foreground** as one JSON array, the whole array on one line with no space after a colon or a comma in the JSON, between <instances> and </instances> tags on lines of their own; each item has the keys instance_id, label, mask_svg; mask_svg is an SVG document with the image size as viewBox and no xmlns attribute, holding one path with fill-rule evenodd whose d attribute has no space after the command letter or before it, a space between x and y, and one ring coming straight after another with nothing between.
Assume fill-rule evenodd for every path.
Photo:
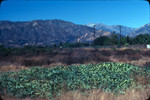
<instances>
[{"instance_id":1,"label":"pale tan dry grass in the bottom right foreground","mask_svg":"<svg viewBox=\"0 0 150 100\"><path fill-rule=\"evenodd\" d=\"M67 96L60 96L60 99L58 100L145 100L149 96L150 90L128 90L124 95L114 95L111 93L94 90L89 92L89 96L84 96L79 92L70 92Z\"/></svg>"}]
</instances>

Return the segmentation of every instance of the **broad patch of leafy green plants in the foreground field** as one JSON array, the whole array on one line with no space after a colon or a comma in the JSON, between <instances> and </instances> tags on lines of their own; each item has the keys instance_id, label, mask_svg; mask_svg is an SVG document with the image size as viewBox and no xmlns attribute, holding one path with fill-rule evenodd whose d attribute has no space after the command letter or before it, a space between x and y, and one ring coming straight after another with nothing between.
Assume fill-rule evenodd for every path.
<instances>
[{"instance_id":1,"label":"broad patch of leafy green plants in the foreground field","mask_svg":"<svg viewBox=\"0 0 150 100\"><path fill-rule=\"evenodd\" d=\"M17 97L53 97L64 91L103 89L122 92L134 84L142 69L124 63L33 67L0 76L0 93Z\"/></svg>"}]
</instances>

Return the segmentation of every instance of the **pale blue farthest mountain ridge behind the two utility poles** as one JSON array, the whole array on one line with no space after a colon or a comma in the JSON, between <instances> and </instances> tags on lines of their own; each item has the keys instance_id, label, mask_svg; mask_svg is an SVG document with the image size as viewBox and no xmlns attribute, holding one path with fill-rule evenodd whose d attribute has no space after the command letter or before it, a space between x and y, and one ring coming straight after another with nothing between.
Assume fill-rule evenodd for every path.
<instances>
[{"instance_id":1,"label":"pale blue farthest mountain ridge behind the two utility poles","mask_svg":"<svg viewBox=\"0 0 150 100\"><path fill-rule=\"evenodd\" d=\"M98 24L95 24L95 28L96 29L101 29L101 30L104 30L104 31L109 31L109 32L116 32L116 33L120 33L120 29L119 29L119 26L118 25L105 25L105 24L102 24L102 23L98 23ZM87 24L87 26L89 27L93 27L94 26L94 23L89 23ZM122 35L126 36L126 35L129 35L131 34L133 31L135 31L136 29L135 28L131 28L131 27L127 27L127 26L122 26L121 27L121 31L122 31Z\"/></svg>"}]
</instances>

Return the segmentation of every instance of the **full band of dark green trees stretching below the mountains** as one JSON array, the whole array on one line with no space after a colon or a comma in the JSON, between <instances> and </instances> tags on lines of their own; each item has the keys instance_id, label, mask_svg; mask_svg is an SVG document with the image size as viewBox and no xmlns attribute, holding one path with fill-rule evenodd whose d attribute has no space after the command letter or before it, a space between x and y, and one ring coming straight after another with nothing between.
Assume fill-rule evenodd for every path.
<instances>
[{"instance_id":1,"label":"full band of dark green trees stretching below the mountains","mask_svg":"<svg viewBox=\"0 0 150 100\"><path fill-rule=\"evenodd\" d=\"M53 44L51 46L24 46L22 48L10 48L5 46L0 46L0 56L8 55L21 55L21 54L34 54L38 55L45 52L46 54L52 53L55 48L78 48L78 47L89 47L89 46L112 46L112 45L140 45L140 44L150 44L150 34L139 34L136 37L129 36L119 36L113 32L110 36L100 36L96 38L91 43L60 43Z\"/></svg>"}]
</instances>

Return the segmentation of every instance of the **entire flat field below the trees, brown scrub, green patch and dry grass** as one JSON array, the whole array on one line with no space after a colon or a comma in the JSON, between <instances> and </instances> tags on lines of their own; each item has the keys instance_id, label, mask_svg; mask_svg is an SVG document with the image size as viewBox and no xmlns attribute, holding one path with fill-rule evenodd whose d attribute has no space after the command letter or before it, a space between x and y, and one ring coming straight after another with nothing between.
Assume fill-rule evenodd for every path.
<instances>
[{"instance_id":1,"label":"entire flat field below the trees, brown scrub, green patch and dry grass","mask_svg":"<svg viewBox=\"0 0 150 100\"><path fill-rule=\"evenodd\" d=\"M150 50L0 47L2 100L146 100Z\"/></svg>"}]
</instances>

